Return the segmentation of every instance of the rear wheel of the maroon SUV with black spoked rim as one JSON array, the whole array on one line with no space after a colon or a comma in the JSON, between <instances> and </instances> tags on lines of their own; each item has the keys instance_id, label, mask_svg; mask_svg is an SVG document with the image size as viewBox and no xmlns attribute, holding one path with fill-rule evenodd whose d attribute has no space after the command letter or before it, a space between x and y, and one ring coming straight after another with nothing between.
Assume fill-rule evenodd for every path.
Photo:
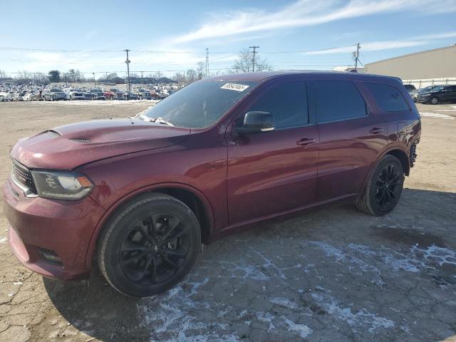
<instances>
[{"instance_id":1,"label":"rear wheel of the maroon SUV with black spoked rim","mask_svg":"<svg viewBox=\"0 0 456 342\"><path fill-rule=\"evenodd\" d=\"M356 207L374 216L388 214L399 202L404 180L400 160L393 155L385 155L371 172L363 193L356 200Z\"/></svg>"}]
</instances>

